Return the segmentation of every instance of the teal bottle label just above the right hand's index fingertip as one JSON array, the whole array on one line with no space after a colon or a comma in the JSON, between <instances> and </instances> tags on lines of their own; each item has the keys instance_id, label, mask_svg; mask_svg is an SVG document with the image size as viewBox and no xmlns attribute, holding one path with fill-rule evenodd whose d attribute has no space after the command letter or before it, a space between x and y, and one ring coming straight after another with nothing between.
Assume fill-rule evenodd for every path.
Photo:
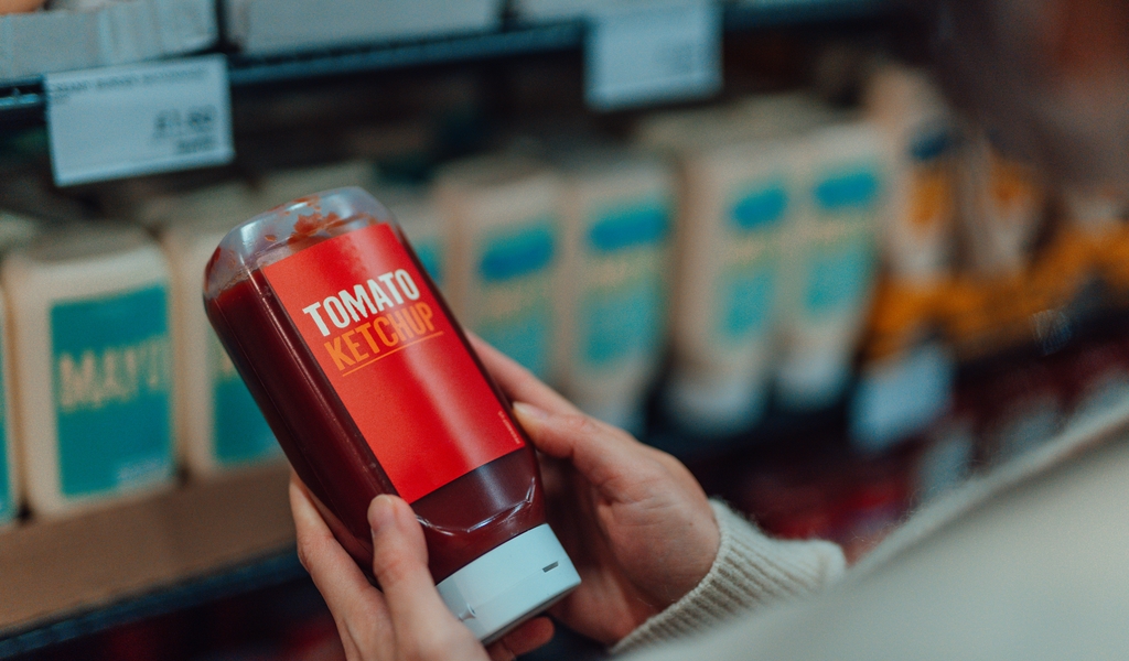
<instances>
[{"instance_id":1,"label":"teal bottle label just above the right hand's index fingertip","mask_svg":"<svg viewBox=\"0 0 1129 661\"><path fill-rule=\"evenodd\" d=\"M476 264L475 329L540 378L548 376L552 351L555 258L557 222L545 217L488 236Z\"/></svg>"}]
</instances>

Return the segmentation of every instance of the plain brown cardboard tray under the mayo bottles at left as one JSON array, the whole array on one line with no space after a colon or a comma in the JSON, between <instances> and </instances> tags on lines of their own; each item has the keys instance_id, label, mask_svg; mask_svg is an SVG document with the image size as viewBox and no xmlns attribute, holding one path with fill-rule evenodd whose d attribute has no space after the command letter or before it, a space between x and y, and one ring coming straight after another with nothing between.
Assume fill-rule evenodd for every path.
<instances>
[{"instance_id":1,"label":"plain brown cardboard tray under the mayo bottles at left","mask_svg":"<svg viewBox=\"0 0 1129 661\"><path fill-rule=\"evenodd\" d=\"M0 532L0 637L294 545L288 466Z\"/></svg>"}]
</instances>

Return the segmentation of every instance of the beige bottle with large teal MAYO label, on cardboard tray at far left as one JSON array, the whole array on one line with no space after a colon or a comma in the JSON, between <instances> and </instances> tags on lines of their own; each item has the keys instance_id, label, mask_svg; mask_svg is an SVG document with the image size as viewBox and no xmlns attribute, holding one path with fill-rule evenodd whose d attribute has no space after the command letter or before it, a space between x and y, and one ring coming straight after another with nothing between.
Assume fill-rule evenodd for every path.
<instances>
[{"instance_id":1,"label":"beige bottle with large teal MAYO label, on cardboard tray at far left","mask_svg":"<svg viewBox=\"0 0 1129 661\"><path fill-rule=\"evenodd\" d=\"M71 226L5 259L33 514L175 482L168 267L139 229Z\"/></svg>"}]
</instances>

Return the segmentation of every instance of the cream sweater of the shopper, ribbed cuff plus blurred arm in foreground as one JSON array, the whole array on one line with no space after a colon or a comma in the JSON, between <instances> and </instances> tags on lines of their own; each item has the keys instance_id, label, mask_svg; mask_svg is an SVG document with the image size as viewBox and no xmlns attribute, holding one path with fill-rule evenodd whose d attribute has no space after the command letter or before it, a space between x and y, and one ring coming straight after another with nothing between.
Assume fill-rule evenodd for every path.
<instances>
[{"instance_id":1,"label":"cream sweater of the shopper, ribbed cuff plus blurred arm in foreground","mask_svg":"<svg viewBox=\"0 0 1129 661\"><path fill-rule=\"evenodd\" d=\"M1101 452L1095 452L1097 457L1093 460L1079 459L1105 443L1109 444ZM1036 482L1032 487L1041 486L1042 491L1019 493L1034 504L1026 503L1024 509L1005 497L1050 471L1054 475ZM812 603L784 608L771 607L784 606L789 597L820 592L842 576L842 552L826 541L770 539L723 503L711 502L721 530L721 545L709 573L697 588L628 634L612 651L630 652L653 643L686 638L674 645L648 650L645 658L656 661L782 656L907 659L928 658L922 653L929 650L929 644L922 641L933 641L936 645L931 656L937 659L984 658L986 653L988 658L1016 659L1129 658L1110 652L1111 649L1129 651L1129 638L1121 635L1123 627L1120 626L1124 620L1123 612L1129 610L1124 606L1124 594L1129 593L1129 589L1122 588L1123 584L1129 585L1129 572L1124 571L1129 525L1124 525L1126 518L1121 515L1124 503L1129 501L1127 475L1129 399L1109 411L1073 422L1052 441L986 476L969 479L929 503L867 554L851 570L852 579L842 581L838 590L822 594ZM1086 491L1100 488L1111 493ZM1077 496L1075 492L1083 495ZM1075 500L1078 502L1071 504L1071 494L1077 496ZM1108 504L1106 509L1111 511L1092 511L1100 510L1102 504ZM988 519L987 525L979 522L984 528L982 535L947 540L947 546L943 535L937 538L946 528L955 527L960 532L962 521L966 528L974 527L978 523L975 517L971 520L968 517L981 509L987 510L982 512L982 518ZM1119 513L1113 513L1114 510ZM1056 519L1056 514L1066 522ZM1064 532L1069 529L1069 522L1080 530ZM1008 525L1018 530L1015 536L1025 535L1026 538L1001 537L1000 529ZM1102 547L1100 543L1106 546ZM1030 557L1038 555L1035 552L1045 555L1057 548L1070 562L1060 559L1054 564L1041 558L1045 564L1043 566ZM1086 563L1078 562L1084 550L1096 548L1104 548L1104 554L1097 554L1096 559L1089 558ZM945 561L942 556L946 552L959 556L959 562ZM1017 562L1018 558L1023 562ZM899 559L900 563L895 562ZM994 559L998 562L994 564ZM1017 628L1016 623L1024 620L1015 615L1016 609L1031 610L1040 605L1058 603L1056 599L1045 598L1047 583L1054 579L1061 581L1064 574L1074 575L1079 566L1096 567L1095 572L1105 569L1097 584L1115 596L1118 608L1096 600L1096 593L1102 590L1092 589L1085 592L1083 599L1087 608L1079 608L1076 601L1062 600L1064 612L1049 619L1047 612L1036 612L1026 622L1040 623L1039 626L1032 631ZM953 567L957 569L955 573ZM983 567L983 571L972 573L974 567ZM999 582L999 576L1008 571L1025 573L1026 579L1003 588L996 585L994 581ZM886 573L885 583L876 579L872 587L869 579L881 578L882 572ZM922 582L938 575L944 576L940 579L943 584L955 585L949 590L953 592L951 602L939 601L945 594L938 597L936 585L922 585ZM1023 592L1031 585L1042 590L1038 592L1039 599L1031 599L1030 592ZM864 596L865 590L874 593ZM938 603L949 606L947 611L942 612L946 617L938 615ZM883 611L881 617L875 617L875 610L884 608L895 608L898 615ZM754 609L761 612L747 617ZM852 618L860 622L856 623ZM997 622L1000 618L1003 622ZM734 622L727 627L717 627L725 620ZM987 622L995 624L986 625ZM1111 622L1117 622L1117 626L1109 626ZM782 623L789 626L781 626ZM1048 623L1067 623L1068 626L1054 628L1045 626ZM693 635L703 634L706 629L715 631ZM807 632L807 635L796 636L797 631ZM968 635L973 631L981 635ZM962 635L954 635L954 632L962 632ZM1016 637L1017 634L1040 642L1033 646L1031 640ZM988 635L987 643L984 635ZM1056 636L1058 640L1054 640ZM1111 636L1118 638L1117 644L1101 649L1110 644ZM1065 647L1062 641L1068 641ZM959 652L949 650L954 645L960 649ZM820 651L812 651L816 649ZM1101 652L1078 652L1083 649L1101 649ZM994 650L1012 653L992 655ZM1058 653L1060 650L1070 650L1070 653Z\"/></svg>"}]
</instances>

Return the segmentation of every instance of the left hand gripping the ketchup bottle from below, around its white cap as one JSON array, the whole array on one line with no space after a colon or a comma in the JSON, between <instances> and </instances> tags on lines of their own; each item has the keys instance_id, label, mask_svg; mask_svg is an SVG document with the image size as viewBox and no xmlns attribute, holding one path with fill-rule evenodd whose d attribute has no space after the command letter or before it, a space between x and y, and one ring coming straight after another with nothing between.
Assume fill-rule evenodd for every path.
<instances>
[{"instance_id":1,"label":"left hand gripping the ketchup bottle from below, around its white cap","mask_svg":"<svg viewBox=\"0 0 1129 661\"><path fill-rule=\"evenodd\" d=\"M423 529L396 496L377 496L368 508L373 574L380 590L374 588L334 539L313 497L291 473L298 557L333 614L350 661L507 661L552 638L552 623L540 617L484 649L439 597L427 567Z\"/></svg>"}]
</instances>

